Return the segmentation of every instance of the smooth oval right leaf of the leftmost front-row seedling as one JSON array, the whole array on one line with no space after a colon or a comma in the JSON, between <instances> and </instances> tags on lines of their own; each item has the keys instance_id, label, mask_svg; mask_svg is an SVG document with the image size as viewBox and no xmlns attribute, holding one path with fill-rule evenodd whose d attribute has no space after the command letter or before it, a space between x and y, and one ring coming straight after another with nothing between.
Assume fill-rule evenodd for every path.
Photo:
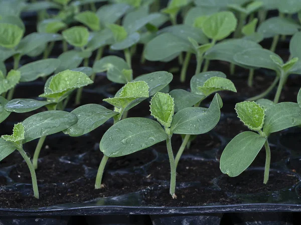
<instances>
[{"instance_id":1,"label":"smooth oval right leaf of the leftmost front-row seedling","mask_svg":"<svg viewBox=\"0 0 301 225\"><path fill-rule=\"evenodd\" d=\"M76 115L67 111L43 111L26 118L22 124L25 130L23 143L58 133L77 122Z\"/></svg>"}]
</instances>

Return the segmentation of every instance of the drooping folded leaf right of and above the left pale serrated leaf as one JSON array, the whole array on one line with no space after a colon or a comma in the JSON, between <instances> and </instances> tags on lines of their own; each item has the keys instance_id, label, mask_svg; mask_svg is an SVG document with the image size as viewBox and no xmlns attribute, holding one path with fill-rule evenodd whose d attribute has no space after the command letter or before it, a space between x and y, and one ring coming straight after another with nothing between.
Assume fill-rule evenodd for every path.
<instances>
[{"instance_id":1,"label":"drooping folded leaf right of and above the left pale serrated leaf","mask_svg":"<svg viewBox=\"0 0 301 225\"><path fill-rule=\"evenodd\" d=\"M115 55L105 56L93 65L94 72L107 71L107 78L115 83L127 83L132 80L125 76L123 69L130 69L130 67L123 58Z\"/></svg>"}]
</instances>

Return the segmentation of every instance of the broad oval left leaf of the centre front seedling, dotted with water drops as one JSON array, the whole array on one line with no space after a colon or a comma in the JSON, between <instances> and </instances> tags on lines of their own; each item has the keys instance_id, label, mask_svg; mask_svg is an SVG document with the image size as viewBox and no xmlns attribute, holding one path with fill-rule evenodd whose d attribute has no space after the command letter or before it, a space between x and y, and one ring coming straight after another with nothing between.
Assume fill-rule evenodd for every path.
<instances>
[{"instance_id":1,"label":"broad oval left leaf of the centre front seedling, dotted with water drops","mask_svg":"<svg viewBox=\"0 0 301 225\"><path fill-rule=\"evenodd\" d=\"M162 126L148 118L125 118L102 136L100 150L109 157L131 154L167 139Z\"/></svg>"}]
</instances>

